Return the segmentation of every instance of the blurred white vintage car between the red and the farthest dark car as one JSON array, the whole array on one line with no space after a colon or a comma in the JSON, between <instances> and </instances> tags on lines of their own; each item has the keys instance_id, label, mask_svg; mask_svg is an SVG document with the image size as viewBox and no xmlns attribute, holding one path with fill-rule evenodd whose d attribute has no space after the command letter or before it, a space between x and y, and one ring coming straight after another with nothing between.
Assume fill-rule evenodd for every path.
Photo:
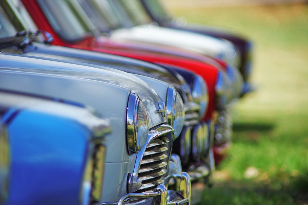
<instances>
[{"instance_id":1,"label":"blurred white vintage car between the red and the farthest dark car","mask_svg":"<svg viewBox=\"0 0 308 205\"><path fill-rule=\"evenodd\" d=\"M231 42L216 37L153 25L151 24L152 22L144 19L144 16L139 12L140 10L136 10L136 8L142 7L140 1L78 0L78 2L81 3L83 9L87 15L90 16L91 21L94 22L94 25L97 26L99 31L104 32L106 28L116 30L110 33L111 39L145 42L148 45L171 45L223 59L228 62L228 64L236 68L238 67L240 58L239 55L237 55L237 48L234 47ZM44 3L40 3L40 5L42 8L44 7ZM47 4L45 6L47 6ZM89 9L90 6L91 9ZM93 12L93 8L97 12ZM99 10L101 11L99 12ZM106 15L106 13L108 13L108 15ZM111 13L113 13L113 15ZM101 17L98 18L98 16ZM103 19L103 21L101 21L101 19ZM113 28L110 28L111 25L106 24L108 20L116 22L118 26L115 27L112 25Z\"/></svg>"}]
</instances>

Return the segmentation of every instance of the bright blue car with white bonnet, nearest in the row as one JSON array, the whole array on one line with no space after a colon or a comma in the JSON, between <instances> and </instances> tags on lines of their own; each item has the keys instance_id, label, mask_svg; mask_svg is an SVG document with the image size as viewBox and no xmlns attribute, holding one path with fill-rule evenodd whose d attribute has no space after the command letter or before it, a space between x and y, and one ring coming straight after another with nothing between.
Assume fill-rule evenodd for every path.
<instances>
[{"instance_id":1,"label":"bright blue car with white bonnet, nearest in the row","mask_svg":"<svg viewBox=\"0 0 308 205\"><path fill-rule=\"evenodd\" d=\"M108 120L63 99L2 89L0 96L0 164L9 167L8 179L1 180L0 204L99 200Z\"/></svg>"}]
</instances>

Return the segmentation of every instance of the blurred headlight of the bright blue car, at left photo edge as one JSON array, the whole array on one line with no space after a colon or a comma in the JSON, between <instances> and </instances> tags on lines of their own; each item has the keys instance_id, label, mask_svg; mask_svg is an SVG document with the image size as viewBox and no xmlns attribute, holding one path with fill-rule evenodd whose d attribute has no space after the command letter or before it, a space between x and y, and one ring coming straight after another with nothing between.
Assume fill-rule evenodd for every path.
<instances>
[{"instance_id":1,"label":"blurred headlight of the bright blue car, at left photo edge","mask_svg":"<svg viewBox=\"0 0 308 205\"><path fill-rule=\"evenodd\" d=\"M9 142L6 130L0 128L0 203L8 195L8 169L10 163Z\"/></svg>"}]
</instances>

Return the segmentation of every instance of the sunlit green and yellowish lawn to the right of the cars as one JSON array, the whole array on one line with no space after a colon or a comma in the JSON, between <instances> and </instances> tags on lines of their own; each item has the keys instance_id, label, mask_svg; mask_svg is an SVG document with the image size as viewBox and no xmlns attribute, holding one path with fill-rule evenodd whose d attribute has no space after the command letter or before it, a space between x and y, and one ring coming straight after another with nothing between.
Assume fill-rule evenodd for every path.
<instances>
[{"instance_id":1,"label":"sunlit green and yellowish lawn to the right of the cars","mask_svg":"<svg viewBox=\"0 0 308 205\"><path fill-rule=\"evenodd\" d=\"M254 42L251 81L257 91L234 105L230 155L204 201L308 204L308 4L172 12L188 22L231 28Z\"/></svg>"}]
</instances>

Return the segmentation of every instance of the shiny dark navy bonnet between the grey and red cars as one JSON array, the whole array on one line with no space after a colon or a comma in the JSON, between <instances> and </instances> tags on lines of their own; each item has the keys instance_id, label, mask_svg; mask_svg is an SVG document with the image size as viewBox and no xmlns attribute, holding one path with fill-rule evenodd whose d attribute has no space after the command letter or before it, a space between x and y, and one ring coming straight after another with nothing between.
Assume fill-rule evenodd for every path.
<instances>
[{"instance_id":1,"label":"shiny dark navy bonnet between the grey and red cars","mask_svg":"<svg viewBox=\"0 0 308 205\"><path fill-rule=\"evenodd\" d=\"M42 43L33 43L35 49L25 49L24 55L34 57L53 58L58 60L77 61L95 65L103 65L127 73L144 75L164 81L173 87L179 87L183 82L176 74L152 63L128 57L99 53L63 46L49 46Z\"/></svg>"}]
</instances>

